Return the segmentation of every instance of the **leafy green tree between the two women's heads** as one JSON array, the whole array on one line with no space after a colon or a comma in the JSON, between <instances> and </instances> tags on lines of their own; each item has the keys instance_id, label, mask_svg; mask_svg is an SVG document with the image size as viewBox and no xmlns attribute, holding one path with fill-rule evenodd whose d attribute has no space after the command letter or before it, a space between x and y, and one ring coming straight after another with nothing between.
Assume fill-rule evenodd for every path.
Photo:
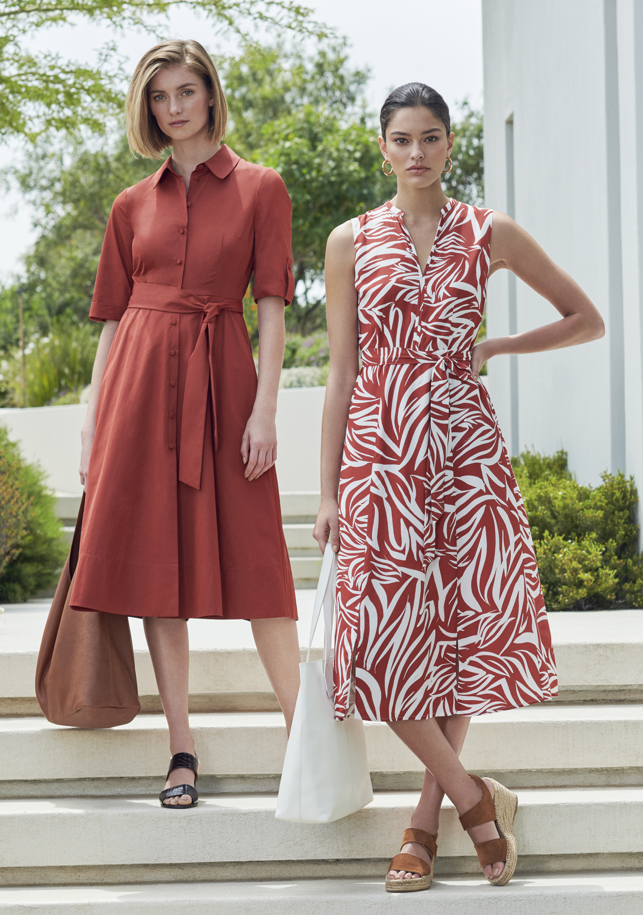
<instances>
[{"instance_id":1,"label":"leafy green tree between the two women's heads","mask_svg":"<svg viewBox=\"0 0 643 915\"><path fill-rule=\"evenodd\" d=\"M226 142L275 168L293 200L295 300L286 324L298 334L325 326L327 237L338 223L384 199L377 132L367 124L368 70L351 70L345 41L311 55L283 44L245 43L220 63L230 108Z\"/></svg>"}]
</instances>

